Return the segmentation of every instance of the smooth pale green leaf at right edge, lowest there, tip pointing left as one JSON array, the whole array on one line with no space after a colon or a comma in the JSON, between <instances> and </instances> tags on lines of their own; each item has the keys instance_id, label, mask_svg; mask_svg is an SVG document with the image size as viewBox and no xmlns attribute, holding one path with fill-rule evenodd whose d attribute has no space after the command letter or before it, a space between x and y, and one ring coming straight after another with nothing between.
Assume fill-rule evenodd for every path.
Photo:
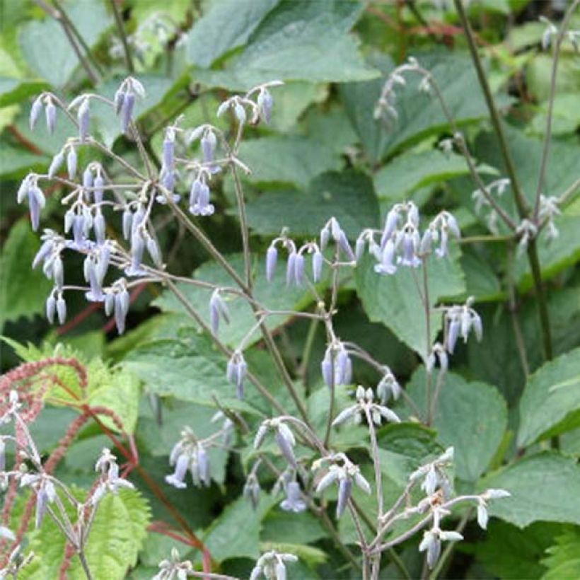
<instances>
[{"instance_id":1,"label":"smooth pale green leaf at right edge, lowest there, tip pointing left","mask_svg":"<svg viewBox=\"0 0 580 580\"><path fill-rule=\"evenodd\" d=\"M580 467L573 458L537 453L494 472L480 489L506 489L511 497L493 501L489 514L523 528L534 521L580 524Z\"/></svg>"}]
</instances>

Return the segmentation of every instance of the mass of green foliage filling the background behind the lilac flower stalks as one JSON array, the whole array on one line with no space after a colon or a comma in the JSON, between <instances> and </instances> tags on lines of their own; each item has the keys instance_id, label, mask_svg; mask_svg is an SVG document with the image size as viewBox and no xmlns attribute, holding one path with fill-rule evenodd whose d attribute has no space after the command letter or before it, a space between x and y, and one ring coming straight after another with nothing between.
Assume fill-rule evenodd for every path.
<instances>
[{"instance_id":1,"label":"mass of green foliage filling the background behind the lilac flower stalks","mask_svg":"<svg viewBox=\"0 0 580 580\"><path fill-rule=\"evenodd\" d=\"M248 451L212 452L214 482L209 489L177 490L163 482L169 470L168 453L180 430L190 426L201 435L207 429L211 433L209 419L216 401L242 412L250 423L272 413L257 393L248 392L243 402L235 398L225 378L226 359L199 332L173 294L152 284L135 289L129 330L122 337L117 337L100 308L81 299L69 303L65 325L47 324L42 313L50 283L41 272L30 269L40 243L23 208L16 205L16 190L31 168L46 170L74 128L61 117L53 136L44 127L31 133L30 104L46 89L66 100L83 90L112 96L127 75L127 66L110 2L62 1L90 50L86 59L90 74L71 49L61 23L50 15L57 3L46 3L48 14L43 4L4 0L1 8L0 326L6 337L1 346L2 370L54 352L83 361L89 371L91 402L122 417L137 441L141 465L163 487L225 574L248 575L252 560L271 545L300 557L289 567L291 577L354 574L312 514L287 514L277 506L279 498L268 494L262 494L253 512L241 497ZM446 156L436 147L451 134L439 103L419 93L411 81L398 94L398 122L385 130L373 119L385 74L413 55L441 86L482 179L489 182L505 175L451 2L125 0L117 4L131 40L135 74L146 86L147 97L138 105L137 119L154 159L161 151L163 127L177 115L185 115L190 126L214 122L216 106L228 91L245 91L271 79L285 81L274 93L272 124L250 129L240 149L240 158L253 168L244 185L256 250L255 294L269 308L313 306L306 291L286 289L281 279L265 282L262 257L269 240L283 227L294 238L310 238L318 235L330 216L336 216L352 238L361 228L380 227L385 211L405 199L412 199L426 215L450 209L458 216L467 240L430 270L430 298L433 303L458 303L474 296L484 337L481 343L458 344L453 372L430 429L403 423L379 431L385 493L396 497L425 456L453 445L457 489L469 493L504 488L512 497L492 507L497 518L490 521L487 534L477 528L472 514L465 514L466 541L455 546L443 575L580 576L579 202L572 198L562 209L557 218L559 238L550 244L542 236L538 240L554 347L554 359L546 362L528 262L516 255L509 241L477 241L477 236L489 236L489 231L475 211L471 198L475 185L465 159L457 153ZM552 66L550 52L540 50L545 25L538 16L556 22L566 4L474 0L468 11L497 103L506 113L509 147L529 199L535 195L543 149ZM577 12L571 28L580 28ZM561 195L578 180L579 63L572 47L563 45L545 180L549 195ZM117 119L98 107L93 117L103 141L132 158L134 147L122 136ZM46 193L43 225L58 229L62 220L58 187ZM228 175L214 187L213 195L216 213L202 227L241 271ZM510 195L499 203L515 216ZM170 272L216 283L224 280L223 271L202 248L187 238L183 241L174 221L162 220L158 233ZM76 271L70 264L67 268L67 276L80 279L80 261ZM207 322L209 292L192 286L183 286L183 291ZM425 397L419 365L419 356L425 354L425 320L417 316L421 308L410 272L378 277L371 260L364 260L341 288L336 319L340 336L358 342L388 364L419 408ZM231 324L222 337L227 346L236 347L254 319L242 301L232 301L230 310ZM439 322L434 319L431 325L434 335L441 330ZM277 317L271 330L303 402L323 429L327 412L320 377L323 329L314 328L308 347L308 322L303 319ZM518 349L514 332L521 332L525 354ZM284 405L294 408L259 333L248 345L250 369ZM310 356L304 358L305 352ZM378 381L362 365L355 365L354 375L356 383L365 386ZM54 448L75 414L61 395L47 393L45 410L33 428L45 452ZM347 405L347 394L342 397L339 407ZM412 415L402 403L396 410L402 417ZM112 423L108 427L115 429ZM342 429L336 437L335 446L359 454L361 463L365 460L364 431ZM250 442L251 434L243 441ZM59 467L59 477L79 487L90 485L93 458L106 445L108 439L100 429L83 429ZM171 547L199 564L197 550L148 528L151 521L171 521L170 516L139 475L132 475L132 481L139 492L109 497L100 512L102 521L95 522L88 557L96 576L151 577ZM362 505L371 513L372 506ZM340 535L347 542L353 540L348 523L341 522ZM54 546L53 537L54 530L47 524L30 533L37 558L26 577L54 576L62 547ZM417 543L415 538L398 550L413 577L421 574L422 567ZM71 576L78 574L73 567ZM383 570L385 578L400 574L393 564Z\"/></svg>"}]
</instances>

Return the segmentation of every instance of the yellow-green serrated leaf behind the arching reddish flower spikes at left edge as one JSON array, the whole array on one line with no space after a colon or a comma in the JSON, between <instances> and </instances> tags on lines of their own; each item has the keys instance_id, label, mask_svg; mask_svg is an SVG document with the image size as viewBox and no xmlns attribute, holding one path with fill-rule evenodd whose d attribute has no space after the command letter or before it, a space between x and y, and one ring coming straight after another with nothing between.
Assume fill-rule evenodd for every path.
<instances>
[{"instance_id":1,"label":"yellow-green serrated leaf behind the arching reddish flower spikes at left edge","mask_svg":"<svg viewBox=\"0 0 580 580\"><path fill-rule=\"evenodd\" d=\"M56 346L45 343L42 347L33 344L24 346L18 342L2 337L16 354L25 362L40 361L51 356L61 356L64 359L77 359L86 367L88 385L86 397L83 398L79 376L74 369L68 366L55 365L50 369L59 378L66 388L53 384L45 394L45 402L56 406L77 407L79 404L88 404L91 407L106 407L117 414L122 421L124 431L132 433L137 424L139 409L139 381L137 377L124 371L120 366L110 366L98 358L87 359L86 356L76 351L69 345L57 344ZM113 431L119 431L119 427L107 416L100 416L100 420L106 427Z\"/></svg>"}]
</instances>

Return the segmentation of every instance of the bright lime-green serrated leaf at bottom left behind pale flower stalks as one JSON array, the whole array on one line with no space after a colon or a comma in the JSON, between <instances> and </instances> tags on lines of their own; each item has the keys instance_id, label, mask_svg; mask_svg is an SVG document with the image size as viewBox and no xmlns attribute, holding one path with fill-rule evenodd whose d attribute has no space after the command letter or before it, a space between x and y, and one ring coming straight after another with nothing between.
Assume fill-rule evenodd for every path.
<instances>
[{"instance_id":1,"label":"bright lime-green serrated leaf at bottom left behind pale flower stalks","mask_svg":"<svg viewBox=\"0 0 580 580\"><path fill-rule=\"evenodd\" d=\"M78 489L75 495L84 497ZM70 514L72 518L76 514ZM133 489L121 489L118 494L108 494L98 506L91 533L86 545L86 559L93 578L122 580L129 568L137 564L137 555L147 534L151 514L149 504ZM34 552L31 564L18 578L58 578L64 557L64 535L51 518L28 534L28 550ZM85 574L78 557L71 560L68 576L83 579Z\"/></svg>"}]
</instances>

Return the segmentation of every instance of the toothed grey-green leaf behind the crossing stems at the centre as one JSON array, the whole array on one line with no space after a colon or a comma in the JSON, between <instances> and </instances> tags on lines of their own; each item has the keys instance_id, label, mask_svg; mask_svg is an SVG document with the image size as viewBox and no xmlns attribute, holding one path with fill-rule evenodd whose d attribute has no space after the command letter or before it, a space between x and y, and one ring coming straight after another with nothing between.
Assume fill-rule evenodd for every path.
<instances>
[{"instance_id":1,"label":"toothed grey-green leaf behind the crossing stems at the centre","mask_svg":"<svg viewBox=\"0 0 580 580\"><path fill-rule=\"evenodd\" d=\"M228 262L237 272L243 271L243 257L241 255L228 256ZM267 282L263 260L255 262L253 267L253 272L255 272L255 286L253 289L255 300L270 311L302 310L311 303L311 296L306 289L296 288L294 286L290 288L286 287L284 273L280 270L282 270L282 267L279 267L279 271L272 282ZM232 284L227 272L216 262L205 262L194 272L193 277L221 287L231 287ZM212 293L211 289L199 288L192 284L185 284L185 282L180 282L178 288L185 295L190 305L199 313L204 322L209 325L209 298ZM227 324L224 320L221 321L219 337L228 346L238 347L248 331L255 325L256 318L252 308L250 308L244 298L226 293L222 295L222 298L228 306L230 323ZM178 302L177 298L170 291L165 291L154 304L164 312L185 314L182 304ZM267 317L265 323L270 330L274 330L284 325L289 318L291 316L286 314L272 315ZM193 324L194 322L192 320ZM261 336L260 330L255 330L248 337L248 340L245 341L245 346L251 346L257 340L260 340ZM220 358L222 358L221 355Z\"/></svg>"}]
</instances>

